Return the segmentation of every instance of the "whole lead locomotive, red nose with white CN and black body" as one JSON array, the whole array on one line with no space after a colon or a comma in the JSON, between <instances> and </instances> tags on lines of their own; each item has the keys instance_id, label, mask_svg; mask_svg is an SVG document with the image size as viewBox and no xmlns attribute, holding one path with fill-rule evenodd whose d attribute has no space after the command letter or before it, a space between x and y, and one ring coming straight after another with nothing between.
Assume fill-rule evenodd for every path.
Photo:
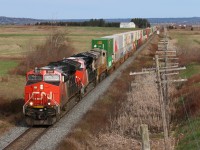
<instances>
[{"instance_id":1,"label":"whole lead locomotive, red nose with white CN and black body","mask_svg":"<svg viewBox=\"0 0 200 150\"><path fill-rule=\"evenodd\" d=\"M80 97L81 84L73 60L50 62L27 73L23 113L28 125L51 125L61 116L70 99Z\"/></svg>"}]
</instances>

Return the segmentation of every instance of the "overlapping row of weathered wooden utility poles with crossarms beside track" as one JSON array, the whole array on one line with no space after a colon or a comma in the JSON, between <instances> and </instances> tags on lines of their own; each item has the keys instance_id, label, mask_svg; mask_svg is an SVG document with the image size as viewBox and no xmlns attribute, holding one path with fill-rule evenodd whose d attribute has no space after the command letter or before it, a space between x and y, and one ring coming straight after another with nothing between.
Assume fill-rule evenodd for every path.
<instances>
[{"instance_id":1,"label":"overlapping row of weathered wooden utility poles with crossarms beside track","mask_svg":"<svg viewBox=\"0 0 200 150\"><path fill-rule=\"evenodd\" d=\"M164 131L165 150L170 149L169 143L169 123L170 123L170 100L168 98L169 83L184 82L187 79L169 80L168 76L177 75L180 70L185 67L178 67L178 63L174 63L176 58L176 51L168 50L167 29L164 28L165 38L158 43L158 51L155 55L155 68L142 69L142 72L130 72L130 75L142 75L156 72L156 83L158 84L158 95L162 116L162 124Z\"/></svg>"}]
</instances>

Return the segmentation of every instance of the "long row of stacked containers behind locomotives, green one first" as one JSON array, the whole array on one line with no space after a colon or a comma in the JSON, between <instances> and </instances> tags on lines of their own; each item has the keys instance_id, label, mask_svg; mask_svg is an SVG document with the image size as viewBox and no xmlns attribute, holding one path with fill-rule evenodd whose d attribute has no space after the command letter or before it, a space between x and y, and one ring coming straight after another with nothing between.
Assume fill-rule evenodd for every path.
<instances>
[{"instance_id":1,"label":"long row of stacked containers behind locomotives, green one first","mask_svg":"<svg viewBox=\"0 0 200 150\"><path fill-rule=\"evenodd\" d=\"M135 30L92 40L92 48L107 51L107 67L124 58L128 53L141 46L144 41L156 30L155 27Z\"/></svg>"}]
</instances>

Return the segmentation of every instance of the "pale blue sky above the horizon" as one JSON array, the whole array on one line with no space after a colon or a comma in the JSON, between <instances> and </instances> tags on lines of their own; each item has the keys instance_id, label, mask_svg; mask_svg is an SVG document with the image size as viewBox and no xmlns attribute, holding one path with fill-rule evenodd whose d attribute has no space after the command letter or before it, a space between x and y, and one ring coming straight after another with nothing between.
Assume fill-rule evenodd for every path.
<instances>
[{"instance_id":1,"label":"pale blue sky above the horizon","mask_svg":"<svg viewBox=\"0 0 200 150\"><path fill-rule=\"evenodd\" d=\"M0 16L35 19L200 17L200 0L0 0Z\"/></svg>"}]
</instances>

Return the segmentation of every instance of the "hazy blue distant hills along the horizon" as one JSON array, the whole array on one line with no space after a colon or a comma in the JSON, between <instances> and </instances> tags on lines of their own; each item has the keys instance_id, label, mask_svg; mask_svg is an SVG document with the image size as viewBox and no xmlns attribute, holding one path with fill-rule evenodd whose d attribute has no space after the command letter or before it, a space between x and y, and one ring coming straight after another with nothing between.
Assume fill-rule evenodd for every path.
<instances>
[{"instance_id":1,"label":"hazy blue distant hills along the horizon","mask_svg":"<svg viewBox=\"0 0 200 150\"><path fill-rule=\"evenodd\" d=\"M200 24L200 17L191 18L147 18L151 24L176 23L176 24ZM37 22L83 22L89 19L32 19L32 18L12 18L0 16L0 24L35 24ZM104 19L106 22L130 22L131 18Z\"/></svg>"}]
</instances>

